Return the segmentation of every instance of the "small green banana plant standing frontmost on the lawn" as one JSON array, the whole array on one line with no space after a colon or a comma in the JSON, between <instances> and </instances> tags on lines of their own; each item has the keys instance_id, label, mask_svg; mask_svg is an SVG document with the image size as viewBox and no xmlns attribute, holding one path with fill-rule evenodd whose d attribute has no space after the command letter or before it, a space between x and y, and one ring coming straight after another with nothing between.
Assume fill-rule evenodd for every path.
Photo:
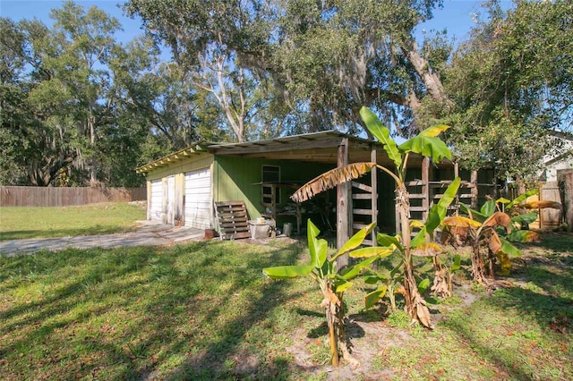
<instances>
[{"instance_id":1,"label":"small green banana plant standing frontmost on the lawn","mask_svg":"<svg viewBox=\"0 0 573 381\"><path fill-rule=\"evenodd\" d=\"M310 275L319 285L323 297L321 307L325 309L329 327L331 363L335 367L339 364L338 350L342 351L345 360L354 362L346 346L344 292L352 286L350 281L360 275L363 268L391 254L391 250L386 248L360 247L374 226L375 223L369 224L355 233L334 256L329 257L328 242L317 238L321 232L309 219L307 239L311 263L298 266L266 267L262 270L263 274L271 279L290 279ZM362 260L353 266L338 270L336 259L345 254L349 254L351 258L362 258Z\"/></svg>"}]
</instances>

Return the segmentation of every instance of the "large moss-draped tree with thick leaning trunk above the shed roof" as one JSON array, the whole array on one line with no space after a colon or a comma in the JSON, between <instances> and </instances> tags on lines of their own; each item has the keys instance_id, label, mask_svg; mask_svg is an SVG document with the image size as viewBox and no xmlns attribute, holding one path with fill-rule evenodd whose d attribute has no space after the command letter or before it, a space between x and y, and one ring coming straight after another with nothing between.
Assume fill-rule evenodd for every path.
<instances>
[{"instance_id":1,"label":"large moss-draped tree with thick leaning trunk above the shed roof","mask_svg":"<svg viewBox=\"0 0 573 381\"><path fill-rule=\"evenodd\" d=\"M449 104L440 76L421 55L413 30L440 2L294 1L277 13L275 76L286 100L312 114L312 129L356 131L361 106L418 129L423 97ZM398 123L397 123L398 125Z\"/></svg>"}]
</instances>

